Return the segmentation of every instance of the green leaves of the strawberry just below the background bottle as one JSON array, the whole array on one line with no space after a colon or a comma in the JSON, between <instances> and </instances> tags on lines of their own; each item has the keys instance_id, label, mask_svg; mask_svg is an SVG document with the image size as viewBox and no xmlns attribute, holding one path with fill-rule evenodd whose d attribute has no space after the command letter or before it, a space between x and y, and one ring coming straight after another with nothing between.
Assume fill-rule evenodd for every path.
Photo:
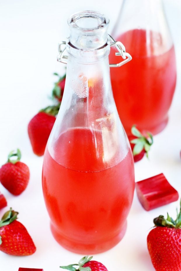
<instances>
[{"instance_id":1,"label":"green leaves of the strawberry just below the background bottle","mask_svg":"<svg viewBox=\"0 0 181 271\"><path fill-rule=\"evenodd\" d=\"M151 145L153 144L152 134L147 132L148 137L143 136L142 133L140 133L140 131L136 128L135 125L132 126L131 133L133 134L133 136L137 137L130 141L130 143L135 144L133 148L133 156L139 154L143 149L145 149L146 156L148 158L149 149Z\"/></svg>"}]
</instances>

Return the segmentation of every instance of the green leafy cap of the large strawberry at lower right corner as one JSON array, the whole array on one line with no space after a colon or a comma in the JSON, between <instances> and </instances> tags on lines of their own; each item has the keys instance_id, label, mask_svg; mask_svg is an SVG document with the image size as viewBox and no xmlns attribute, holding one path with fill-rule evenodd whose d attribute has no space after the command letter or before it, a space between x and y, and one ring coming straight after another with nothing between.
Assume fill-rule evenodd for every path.
<instances>
[{"instance_id":1,"label":"green leafy cap of the large strawberry at lower right corner","mask_svg":"<svg viewBox=\"0 0 181 271\"><path fill-rule=\"evenodd\" d=\"M180 212L177 211L177 218L174 220L167 213L167 218L163 215L159 215L153 220L155 226L167 227L167 228L179 228L181 229L181 200L180 200Z\"/></svg>"}]
</instances>

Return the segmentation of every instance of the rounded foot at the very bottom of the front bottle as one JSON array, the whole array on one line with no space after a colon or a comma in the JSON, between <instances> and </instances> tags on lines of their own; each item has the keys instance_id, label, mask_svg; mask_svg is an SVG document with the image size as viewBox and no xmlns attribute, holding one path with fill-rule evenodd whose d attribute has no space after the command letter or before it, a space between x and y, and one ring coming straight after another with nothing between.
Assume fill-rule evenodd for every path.
<instances>
[{"instance_id":1,"label":"rounded foot at the very bottom of the front bottle","mask_svg":"<svg viewBox=\"0 0 181 271\"><path fill-rule=\"evenodd\" d=\"M121 232L116 235L115 237L111 238L110 240L106 240L104 242L97 242L97 243L80 243L74 240L67 239L66 237L62 236L57 229L50 224L51 232L55 240L65 249L72 251L78 254L97 254L104 251L107 251L118 244L121 239L124 237L127 228L127 221L123 225Z\"/></svg>"}]
</instances>

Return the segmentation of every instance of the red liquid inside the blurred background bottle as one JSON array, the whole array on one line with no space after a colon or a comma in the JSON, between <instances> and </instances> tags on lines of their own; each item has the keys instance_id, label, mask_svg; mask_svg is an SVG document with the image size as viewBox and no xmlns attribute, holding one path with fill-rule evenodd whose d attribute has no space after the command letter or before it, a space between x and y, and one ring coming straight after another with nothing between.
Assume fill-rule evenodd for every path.
<instances>
[{"instance_id":1,"label":"red liquid inside the blurred background bottle","mask_svg":"<svg viewBox=\"0 0 181 271\"><path fill-rule=\"evenodd\" d=\"M126 65L110 68L114 100L124 129L130 134L136 124L142 132L159 133L168 122L175 90L174 47L167 50L159 33L143 29L127 31L116 40L133 57ZM112 47L109 62L117 63L117 59Z\"/></svg>"}]
</instances>

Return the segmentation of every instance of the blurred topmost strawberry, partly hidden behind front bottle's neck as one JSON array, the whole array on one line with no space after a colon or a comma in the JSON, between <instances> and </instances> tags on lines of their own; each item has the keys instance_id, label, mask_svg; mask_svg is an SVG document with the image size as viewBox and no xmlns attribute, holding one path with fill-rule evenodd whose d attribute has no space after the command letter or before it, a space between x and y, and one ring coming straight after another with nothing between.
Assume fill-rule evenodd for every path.
<instances>
[{"instance_id":1,"label":"blurred topmost strawberry, partly hidden behind front bottle's neck","mask_svg":"<svg viewBox=\"0 0 181 271\"><path fill-rule=\"evenodd\" d=\"M62 101L63 92L65 88L65 78L66 74L64 76L58 75L58 73L54 73L54 75L57 75L59 77L58 82L55 83L55 87L52 90L52 97L57 99L59 102Z\"/></svg>"}]
</instances>

